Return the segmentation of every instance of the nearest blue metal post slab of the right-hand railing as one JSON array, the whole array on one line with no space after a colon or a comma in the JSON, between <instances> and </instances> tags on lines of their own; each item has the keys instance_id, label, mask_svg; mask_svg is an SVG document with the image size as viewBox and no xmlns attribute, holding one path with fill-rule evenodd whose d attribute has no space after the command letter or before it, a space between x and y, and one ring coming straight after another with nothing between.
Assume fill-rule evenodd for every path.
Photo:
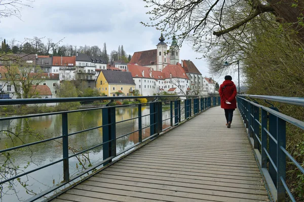
<instances>
[{"instance_id":1,"label":"nearest blue metal post slab of the right-hand railing","mask_svg":"<svg viewBox=\"0 0 304 202\"><path fill-rule=\"evenodd\" d=\"M281 149L286 148L286 121L277 117L277 190L278 201L285 201L285 188L282 180L286 180L286 156Z\"/></svg>"}]
</instances>

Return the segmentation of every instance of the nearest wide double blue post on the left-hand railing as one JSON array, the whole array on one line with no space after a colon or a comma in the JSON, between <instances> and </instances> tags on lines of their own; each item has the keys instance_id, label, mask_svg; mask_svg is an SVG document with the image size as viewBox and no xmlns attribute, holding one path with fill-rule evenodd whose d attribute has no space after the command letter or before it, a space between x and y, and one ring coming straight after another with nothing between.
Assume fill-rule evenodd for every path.
<instances>
[{"instance_id":1,"label":"nearest wide double blue post on the left-hand railing","mask_svg":"<svg viewBox=\"0 0 304 202\"><path fill-rule=\"evenodd\" d=\"M109 157L116 157L116 108L104 108L102 109L102 142L105 143L102 147L103 160ZM112 162L112 160L106 161L104 165Z\"/></svg>"}]
</instances>

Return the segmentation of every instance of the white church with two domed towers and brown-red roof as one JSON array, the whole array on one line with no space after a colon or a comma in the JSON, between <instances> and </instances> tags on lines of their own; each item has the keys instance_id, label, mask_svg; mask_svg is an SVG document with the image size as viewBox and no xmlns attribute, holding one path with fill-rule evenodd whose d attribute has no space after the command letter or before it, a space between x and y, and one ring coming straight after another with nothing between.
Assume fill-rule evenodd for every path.
<instances>
[{"instance_id":1,"label":"white church with two domed towers and brown-red roof","mask_svg":"<svg viewBox=\"0 0 304 202\"><path fill-rule=\"evenodd\" d=\"M162 71L169 64L176 65L179 62L179 47L175 36L169 51L163 33L159 40L157 49L135 52L129 64L150 67L155 71Z\"/></svg>"}]
</instances>

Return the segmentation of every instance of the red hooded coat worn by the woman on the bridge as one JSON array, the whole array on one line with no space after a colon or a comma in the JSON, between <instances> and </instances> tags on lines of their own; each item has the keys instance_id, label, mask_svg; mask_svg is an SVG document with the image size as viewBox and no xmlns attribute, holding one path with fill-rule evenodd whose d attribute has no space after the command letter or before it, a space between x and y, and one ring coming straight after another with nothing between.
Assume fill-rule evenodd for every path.
<instances>
[{"instance_id":1,"label":"red hooded coat worn by the woman on the bridge","mask_svg":"<svg viewBox=\"0 0 304 202\"><path fill-rule=\"evenodd\" d=\"M226 87L224 87L226 86ZM220 96L220 107L223 109L236 109L237 108L237 87L231 80L225 80L219 86L219 96ZM226 104L225 101L231 104Z\"/></svg>"}]
</instances>

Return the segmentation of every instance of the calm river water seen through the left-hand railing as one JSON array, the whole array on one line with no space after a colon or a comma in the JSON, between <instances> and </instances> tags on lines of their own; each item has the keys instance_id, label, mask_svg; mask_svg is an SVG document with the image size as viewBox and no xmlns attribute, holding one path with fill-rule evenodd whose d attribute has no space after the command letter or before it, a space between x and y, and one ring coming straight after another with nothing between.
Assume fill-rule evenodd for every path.
<instances>
[{"instance_id":1,"label":"calm river water seen through the left-hand railing","mask_svg":"<svg viewBox=\"0 0 304 202\"><path fill-rule=\"evenodd\" d=\"M163 106L163 111L170 109L169 106ZM142 116L149 114L149 107L142 107ZM137 107L124 107L116 109L116 121L123 121L137 117ZM170 117L170 111L163 112L163 120ZM62 135L62 119L61 115L51 115L44 117L34 117L29 119L17 119L10 121L0 121L0 149L9 148L12 146L21 145L23 143L35 142L37 140L57 137ZM149 116L142 118L142 128L150 124ZM74 112L68 114L68 132L73 133L84 129L89 129L102 125L102 112L101 110L93 110L86 112ZM170 120L163 122L163 128L170 126ZM138 119L129 120L126 122L118 123L116 125L117 137L127 134L129 132L138 129ZM15 135L9 136L6 130L12 131ZM150 135L149 127L142 131L142 139ZM88 132L82 132L69 136L69 155L75 154L78 151L85 150L87 148L98 145L102 142L102 128L94 129ZM131 147L138 142L138 132L132 133L128 136L117 139L117 153ZM37 167L50 164L62 158L62 140L52 140L46 143L40 143L26 147L24 149L18 149L16 151L10 151L10 161L7 162L7 166L15 167L16 172L21 174L22 172L30 171ZM90 161L88 161L88 159ZM0 154L0 166L3 165L6 158ZM90 164L101 162L102 146L96 147L86 153L85 156L79 155L69 159L69 172L70 176L82 171L84 165L86 168ZM5 173L2 168L2 177L15 176L16 173ZM33 172L27 177L22 177L21 182L25 182L27 186L25 188L17 182L11 187L4 186L2 195L2 201L19 201L25 200L31 195L27 192L39 193L46 190L48 187L53 186L63 180L63 166L62 162L49 166L43 170ZM26 190L26 188L28 190ZM15 194L15 190L18 192L18 197Z\"/></svg>"}]
</instances>

